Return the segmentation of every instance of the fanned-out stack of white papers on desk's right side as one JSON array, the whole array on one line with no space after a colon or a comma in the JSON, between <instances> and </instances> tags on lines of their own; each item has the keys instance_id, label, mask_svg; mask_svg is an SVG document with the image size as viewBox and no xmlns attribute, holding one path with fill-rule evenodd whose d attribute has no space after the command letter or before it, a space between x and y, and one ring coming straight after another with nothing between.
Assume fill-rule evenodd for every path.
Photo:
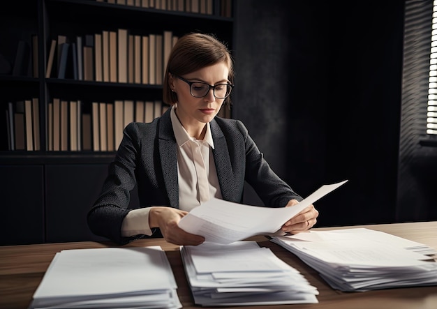
<instances>
[{"instance_id":1,"label":"fanned-out stack of white papers on desk's right side","mask_svg":"<svg viewBox=\"0 0 437 309\"><path fill-rule=\"evenodd\" d=\"M316 269L334 289L345 292L437 285L436 251L422 243L365 228L274 236Z\"/></svg>"}]
</instances>

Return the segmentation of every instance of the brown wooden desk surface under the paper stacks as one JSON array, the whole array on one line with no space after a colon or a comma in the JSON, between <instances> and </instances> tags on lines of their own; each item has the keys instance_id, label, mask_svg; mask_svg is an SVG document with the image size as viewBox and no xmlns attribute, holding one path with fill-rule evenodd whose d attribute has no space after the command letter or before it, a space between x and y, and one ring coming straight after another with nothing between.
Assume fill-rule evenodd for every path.
<instances>
[{"instance_id":1,"label":"brown wooden desk surface under the paper stacks","mask_svg":"<svg viewBox=\"0 0 437 309\"><path fill-rule=\"evenodd\" d=\"M437 221L425 223L397 223L391 225L360 225L378 231L401 236L437 248ZM339 229L318 228L318 230ZM343 227L341 227L343 228ZM318 287L317 304L237 306L228 308L294 308L294 309L436 309L437 286L383 289L369 292L339 292L327 285L309 266L281 246L264 236L253 237L260 246L271 248L283 261L298 269L311 285ZM142 239L126 245L161 246L168 256L177 281L177 293L184 308L201 308L193 304L191 291L186 281L179 247L163 239ZM112 242L45 243L40 245L0 247L0 308L25 309L49 266L54 254L63 249L117 247Z\"/></svg>"}]
</instances>

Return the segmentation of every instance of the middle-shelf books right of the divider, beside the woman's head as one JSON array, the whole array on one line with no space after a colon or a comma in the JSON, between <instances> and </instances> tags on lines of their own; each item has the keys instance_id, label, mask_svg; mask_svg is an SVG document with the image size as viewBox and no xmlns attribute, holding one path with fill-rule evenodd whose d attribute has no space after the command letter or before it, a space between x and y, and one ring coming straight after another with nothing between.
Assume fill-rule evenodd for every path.
<instances>
[{"instance_id":1,"label":"middle-shelf books right of the divider, beside the woman's head","mask_svg":"<svg viewBox=\"0 0 437 309\"><path fill-rule=\"evenodd\" d=\"M51 40L45 77L162 84L177 39L172 31L141 36L128 29L75 38L59 35Z\"/></svg>"}]
</instances>

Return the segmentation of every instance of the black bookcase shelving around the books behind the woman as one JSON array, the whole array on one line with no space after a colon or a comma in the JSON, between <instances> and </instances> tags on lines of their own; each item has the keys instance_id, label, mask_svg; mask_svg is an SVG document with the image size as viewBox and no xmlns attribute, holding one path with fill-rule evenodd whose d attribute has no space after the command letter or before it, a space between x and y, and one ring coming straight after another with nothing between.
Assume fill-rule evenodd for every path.
<instances>
[{"instance_id":1,"label":"black bookcase shelving around the books behind the woman","mask_svg":"<svg viewBox=\"0 0 437 309\"><path fill-rule=\"evenodd\" d=\"M26 140L24 143L21 141L21 145L24 144L27 149L58 149L56 146L53 146L55 142L52 140L55 136L57 136L57 129L64 130L63 133L59 134L60 136L65 137L65 132L68 130L68 145L70 145L70 140L75 138L71 135L71 131L75 125L80 126L81 130L83 129L82 116L84 114L91 114L91 121L101 121L103 117L106 117L107 121L110 121L110 116L97 116L93 117L92 103L104 103L107 104L108 109L112 109L110 105L113 105L114 102L117 101L153 101L155 103L155 110L159 106L159 101L163 98L163 86L159 84L159 80L163 77L163 71L165 68L162 66L159 71L156 71L156 82L145 81L144 83L137 80L136 83L133 83L133 79L129 79L129 83L124 82L96 82L95 77L88 78L85 81L85 77L82 80L78 77L79 67L75 66L78 63L77 61L73 61L73 50L68 50L67 61L64 62L66 65L66 78L58 79L54 78L54 76L58 76L58 54L59 46L56 45L56 51L54 52L54 61L53 67L51 70L50 78L45 78L46 76L46 67L47 67L47 59L50 54L50 46L52 40L57 40L60 36L65 36L67 42L70 43L70 46L73 46L73 43L77 43L77 38L82 38L82 45L85 45L85 39L87 36L89 38L96 38L96 34L100 33L103 36L103 32L113 31L117 33L119 36L119 29L126 29L128 38L132 36L140 36L140 42L142 46L142 38L146 36L151 39L151 35L155 35L156 37L159 34L164 34L165 31L171 32L172 36L180 37L186 33L198 31L203 33L214 33L218 38L223 40L225 43L228 43L230 50L232 50L232 36L234 34L234 20L232 17L223 17L220 15L219 10L221 9L221 2L226 0L212 0L214 10L212 14L200 14L200 13L190 13L184 11L177 10L164 10L164 9L156 9L156 8L142 8L138 6L128 6L121 4L108 3L107 1L95 1L95 0L24 0L24 1L15 1L14 4L7 8L7 10L3 10L0 13L0 16L3 19L0 21L0 34L4 35L3 45L0 47L0 53L4 54L8 59L8 62L13 65L15 61L15 54L17 53L17 45L21 40L24 40L30 47L30 52L34 52L32 48L32 40L31 37L35 34L38 34L38 56L36 58L31 54L29 56L29 70L23 70L22 75L27 76L12 76L11 74L3 74L0 75L0 90L2 96L0 98L0 109L3 114L0 118L0 160L2 163L10 163L10 164L38 164L38 163L57 163L57 162L67 162L68 160L72 160L75 162L77 160L83 160L89 162L98 162L102 160L102 162L107 162L108 157L113 155L107 154L105 152L103 155L96 154L95 151L91 151L91 153L87 153L86 151L77 151L77 153L72 154L69 151L54 151L58 153L57 155L52 154L52 151L8 151L10 140L6 129L8 128L8 122L13 123L14 120L10 121L6 120L5 112L13 114L17 114L17 102L19 101L31 101L31 114L36 114L36 110L38 110L38 119L39 124L34 125L35 121L32 120L32 128L35 130L35 126L39 128L39 142L35 142L34 145L27 146ZM24 8L22 8L24 7ZM12 27L11 27L12 26ZM132 35L132 36L131 36ZM117 38L118 40L118 38ZM132 41L131 41L132 42ZM133 50L136 50L136 46L132 45L132 43L128 41L128 48L133 47ZM157 41L158 42L158 41ZM164 40L162 41L164 42ZM168 41L167 41L168 42ZM174 40L172 42L175 42ZM103 38L102 38L103 43ZM136 43L135 43L136 44ZM108 42L108 45L110 43ZM105 46L108 46L105 45ZM168 46L168 45L167 45ZM118 47L118 42L117 42ZM70 48L70 47L68 47ZM142 48L142 47L140 47ZM164 50L164 46L162 46L162 50ZM78 53L78 50L75 50ZM158 49L155 50L155 52ZM83 50L82 50L83 52ZM110 50L106 50L106 52L110 52ZM94 47L93 47L94 53ZM112 53L114 54L114 53ZM105 56L108 54L104 54ZM117 51L117 57L119 55L119 51ZM138 54L137 54L138 55ZM142 54L141 54L142 55ZM128 54L128 56L132 56L130 59L134 59L133 54ZM83 55L84 57L84 55ZM109 57L109 56L108 56ZM164 56L161 57L161 61ZM23 59L27 59L26 56ZM36 60L35 60L36 59ZM96 61L95 55L92 55L93 61ZM102 45L102 59L103 59L103 45ZM136 58L138 61L138 57ZM150 59L149 59L150 60ZM157 59L158 60L158 59ZM25 60L27 61L27 60ZM38 75L39 77L30 77L33 75L31 69L33 68L34 62L38 61ZM112 68L117 66L117 70L119 68L119 60L108 61L111 63L110 65L107 63L105 68L105 72L112 71ZM130 66L128 66L128 70L130 72L137 72L136 68L140 67L142 69L142 63L144 63L144 59L140 59L141 66L138 66L138 63L134 63L132 65L132 61L128 62ZM151 60L154 61L154 60ZM75 63L75 64L73 64ZM108 68L109 66L109 68ZM92 66L93 70L96 70L96 66ZM158 68L158 66L156 66ZM27 67L26 67L27 68ZM102 65L103 68L103 65ZM84 71L84 68L82 68ZM101 69L102 70L102 69ZM92 73L91 73L92 74ZM152 73L150 73L152 74ZM92 76L92 75L91 75ZM108 76L108 75L105 75ZM132 76L132 75L131 75ZM138 75L137 75L138 76ZM141 73L141 79L142 79ZM152 76L152 75L151 75ZM117 74L117 77L119 75ZM103 78L102 78L103 80ZM106 79L108 80L108 79ZM112 79L111 79L112 80ZM117 80L117 79L115 79ZM149 78L149 81L151 78ZM36 100L38 99L38 100ZM64 111L67 110L67 113L71 112L70 105L73 104L73 101L80 102L80 108L77 109L77 113L79 116L77 118L71 117L69 114L65 116L61 115L59 112L59 121L54 120L54 116L56 113L54 112L54 99L59 99L61 101L67 101L68 107L65 107L63 103ZM13 103L10 105L8 103ZM36 105L38 103L38 105ZM126 104L125 104L126 105ZM29 106L29 105L28 105ZM36 110L33 109L33 106L37 106ZM141 110L141 105L135 105L135 108ZM12 107L12 110L10 110ZM53 110L52 110L53 108ZM57 107L56 107L57 108ZM98 113L101 113L102 108L103 112L104 107L99 107L100 110ZM131 111L129 110L129 113ZM18 112L22 114L23 112ZM53 114L51 114L53 113ZM110 112L108 112L110 113ZM118 115L119 115L118 110ZM24 113L25 114L25 113ZM126 115L126 110L124 111ZM135 117L136 117L135 112ZM157 116L156 112L154 112L154 117ZM34 116L32 116L33 118ZM68 126L57 126L58 123L61 123L61 117L63 117L62 121L67 123ZM13 119L13 118L12 118ZM27 119L24 117L24 119ZM67 120L65 120L67 119ZM72 119L77 119L73 121ZM94 119L94 120L92 120ZM124 126L129 121L126 120L128 118L123 118ZM145 119L147 119L145 117ZM114 120L114 119L113 119ZM136 120L136 119L135 119ZM20 120L21 121L21 120ZM87 121L89 121L87 119ZM133 120L132 120L133 121ZM138 121L138 120L137 120ZM141 121L141 120L139 120ZM74 123L73 123L74 122ZM73 123L73 126L70 126L70 123ZM76 123L76 124L75 124ZM109 123L109 122L108 122ZM115 123L115 121L114 121ZM55 126L56 124L56 126ZM22 125L23 126L23 125ZM52 130L53 126L53 130ZM24 125L25 127L25 125ZM91 128L91 132L89 133L89 128ZM15 130L15 127L13 126ZM10 129L8 129L10 130ZM99 126L98 130L106 130L105 126ZM25 131L24 131L25 132ZM38 132L35 130L35 132ZM85 132L85 134L83 134ZM96 130L93 128L92 123L88 125L87 122L87 130L78 131L79 134L75 135L77 137L87 137L89 134L95 138ZM104 131L103 131L104 132ZM50 133L53 133L50 135ZM89 133L89 134L87 134ZM35 137L31 133L25 133L26 135L31 136L35 141L38 141L38 137ZM16 138L19 135L15 135ZM22 135L20 135L22 136ZM97 138L106 138L105 135L100 135ZM80 138L78 138L80 140ZM56 140L57 141L57 140ZM65 141L65 138L64 138ZM74 142L75 140L73 140ZM118 140L114 141L115 147L110 147L110 149L117 148ZM112 144L112 141L108 142ZM91 144L93 144L91 142ZM102 144L102 143L101 143ZM104 143L103 143L104 144ZM38 145L38 146L36 146ZM22 148L22 147L15 147ZM70 147L60 147L62 149L70 149ZM74 149L74 147L72 147ZM89 149L87 147L82 147L82 149ZM92 149L92 147L91 147ZM97 147L98 149L98 147ZM105 149L104 146L102 149Z\"/></svg>"}]
</instances>

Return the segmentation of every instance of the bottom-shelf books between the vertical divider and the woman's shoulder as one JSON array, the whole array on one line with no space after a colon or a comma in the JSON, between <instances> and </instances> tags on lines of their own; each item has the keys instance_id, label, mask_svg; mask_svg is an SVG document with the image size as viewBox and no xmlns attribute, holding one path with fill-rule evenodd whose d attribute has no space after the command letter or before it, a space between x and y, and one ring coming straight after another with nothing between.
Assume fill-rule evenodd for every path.
<instances>
[{"instance_id":1,"label":"bottom-shelf books between the vertical divider and the woman's shoulder","mask_svg":"<svg viewBox=\"0 0 437 309\"><path fill-rule=\"evenodd\" d=\"M115 151L123 129L133 121L151 122L168 108L161 100L92 102L54 98L48 104L49 151Z\"/></svg>"}]
</instances>

